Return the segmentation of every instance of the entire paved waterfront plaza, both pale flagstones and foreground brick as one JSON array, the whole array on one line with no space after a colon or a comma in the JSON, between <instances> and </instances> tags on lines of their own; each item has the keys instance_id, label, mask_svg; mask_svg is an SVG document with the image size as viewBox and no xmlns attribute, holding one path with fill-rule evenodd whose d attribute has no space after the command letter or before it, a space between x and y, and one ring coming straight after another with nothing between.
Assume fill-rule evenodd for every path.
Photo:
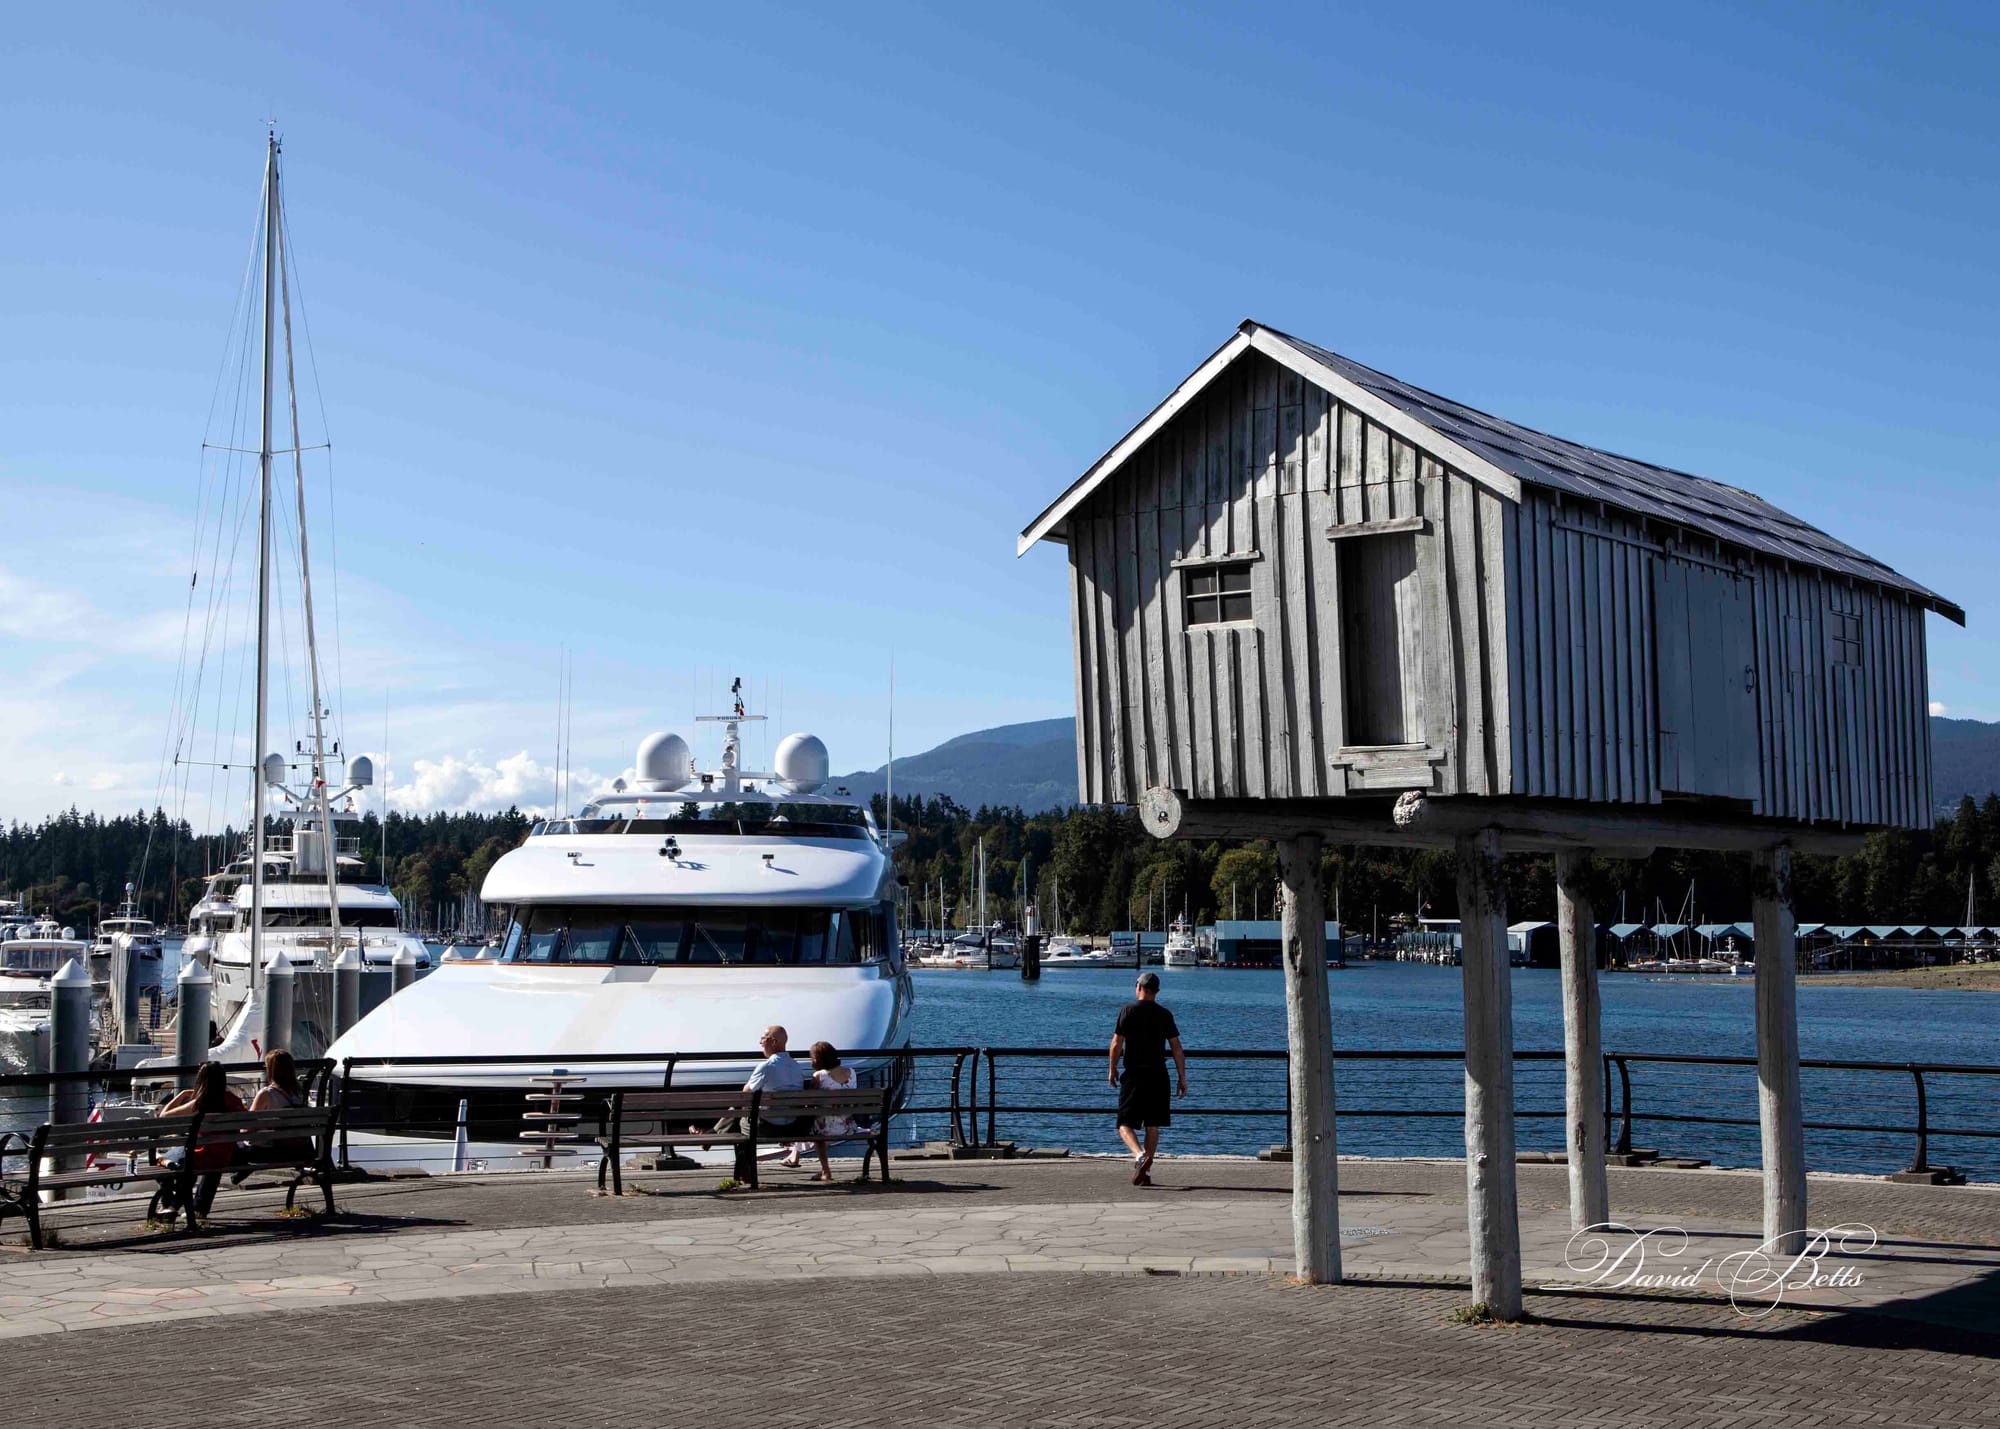
<instances>
[{"instance_id":1,"label":"entire paved waterfront plaza, both pale flagstones and foreground brick","mask_svg":"<svg viewBox=\"0 0 2000 1429\"><path fill-rule=\"evenodd\" d=\"M898 1171L756 1195L648 1175L620 1199L576 1173L392 1181L326 1225L226 1193L192 1241L72 1211L60 1249L0 1251L0 1375L72 1425L126 1417L94 1391L106 1365L190 1425L2000 1419L2000 1189L1816 1179L1814 1225L1882 1243L1828 1259L1856 1283L1752 1315L1714 1281L1576 1289L1562 1169L1524 1165L1544 1293L1530 1323L1470 1327L1454 1163L1342 1165L1358 1279L1336 1289L1284 1281L1284 1167L1172 1161L1150 1193L1098 1159ZM1614 1171L1612 1197L1688 1229L1682 1263L1758 1239L1744 1173ZM766 1365L844 1385L770 1391Z\"/></svg>"}]
</instances>

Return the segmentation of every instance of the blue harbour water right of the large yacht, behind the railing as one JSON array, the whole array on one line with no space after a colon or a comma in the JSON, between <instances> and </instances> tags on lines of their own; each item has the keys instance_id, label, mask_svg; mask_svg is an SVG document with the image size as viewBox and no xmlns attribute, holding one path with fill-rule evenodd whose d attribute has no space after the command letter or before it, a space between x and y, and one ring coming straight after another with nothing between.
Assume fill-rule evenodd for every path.
<instances>
[{"instance_id":1,"label":"blue harbour water right of the large yacht, behind the railing","mask_svg":"<svg viewBox=\"0 0 2000 1429\"><path fill-rule=\"evenodd\" d=\"M1414 963L1358 963L1332 975L1338 1049L1456 1049L1464 1037L1458 969ZM914 1039L918 1045L1104 1047L1118 1007L1130 997L1130 969L1044 971L1040 983L1014 973L920 971ZM1160 969L1160 1001L1174 1009L1186 1047L1284 1047L1284 987L1276 971ZM1602 979L1604 1047L1616 1053L1756 1053L1750 979ZM2000 995L1876 987L1798 989L1802 1057L1840 1061L2000 1063L1994 1025ZM1514 1045L1562 1049L1560 977L1514 973ZM1462 1069L1458 1063L1338 1063L1340 1149L1352 1155L1464 1155ZM920 1087L922 1101L942 1101L944 1087ZM1194 1089L1172 1131L1182 1151L1256 1151L1282 1141L1282 1117L1198 1117L1208 1107L1284 1107L1282 1063L1196 1063ZM2000 1131L2000 1077L1928 1077L1932 1127ZM1616 1107L1616 1075L1612 1081ZM1914 1119L1908 1073L1806 1071L1806 1119L1900 1125ZM1112 1149L1114 1093L1102 1059L1078 1063L1008 1063L1000 1059L1000 1101L1018 1105L1100 1105L1102 1115L1000 1115L1002 1139ZM1634 1111L1704 1117L1756 1117L1752 1067L1632 1065ZM1522 1149L1562 1149L1562 1065L1522 1063L1516 1107ZM1394 1117L1358 1115L1394 1111ZM1446 1113L1424 1117L1410 1113ZM926 1137L944 1121L928 1119ZM1716 1165L1758 1163L1756 1127L1702 1127L1638 1121L1634 1145L1666 1155L1706 1157ZM1816 1171L1900 1171L1910 1163L1910 1135L1806 1133ZM1932 1135L1932 1165L1956 1165L1978 1179L2000 1179L2000 1141Z\"/></svg>"}]
</instances>

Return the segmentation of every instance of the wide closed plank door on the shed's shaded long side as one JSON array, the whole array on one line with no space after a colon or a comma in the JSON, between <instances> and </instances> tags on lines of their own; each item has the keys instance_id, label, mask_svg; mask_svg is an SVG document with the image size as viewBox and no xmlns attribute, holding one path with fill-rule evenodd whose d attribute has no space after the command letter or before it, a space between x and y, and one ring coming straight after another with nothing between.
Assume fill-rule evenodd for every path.
<instances>
[{"instance_id":1,"label":"wide closed plank door on the shed's shaded long side","mask_svg":"<svg viewBox=\"0 0 2000 1429\"><path fill-rule=\"evenodd\" d=\"M1660 789L1756 801L1756 600L1750 576L1652 562Z\"/></svg>"}]
</instances>

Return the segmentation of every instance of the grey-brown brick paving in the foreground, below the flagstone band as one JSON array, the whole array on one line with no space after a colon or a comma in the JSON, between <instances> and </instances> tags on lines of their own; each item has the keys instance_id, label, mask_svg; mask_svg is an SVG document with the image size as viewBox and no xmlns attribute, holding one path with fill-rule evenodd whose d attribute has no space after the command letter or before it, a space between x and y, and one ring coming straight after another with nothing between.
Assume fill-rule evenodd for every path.
<instances>
[{"instance_id":1,"label":"grey-brown brick paving in the foreground, below the flagstone band","mask_svg":"<svg viewBox=\"0 0 2000 1429\"><path fill-rule=\"evenodd\" d=\"M962 1275L448 1299L0 1343L22 1423L1992 1425L1994 1341L1866 1315L1270 1277Z\"/></svg>"}]
</instances>

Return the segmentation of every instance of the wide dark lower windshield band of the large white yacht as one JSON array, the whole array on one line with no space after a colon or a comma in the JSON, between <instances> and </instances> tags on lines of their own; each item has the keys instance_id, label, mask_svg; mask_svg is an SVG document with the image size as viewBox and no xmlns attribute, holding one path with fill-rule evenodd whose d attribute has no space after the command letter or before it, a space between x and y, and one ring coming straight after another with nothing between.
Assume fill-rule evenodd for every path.
<instances>
[{"instance_id":1,"label":"wide dark lower windshield band of the large white yacht","mask_svg":"<svg viewBox=\"0 0 2000 1429\"><path fill-rule=\"evenodd\" d=\"M498 961L792 967L872 963L886 953L882 909L544 905L514 911Z\"/></svg>"}]
</instances>

